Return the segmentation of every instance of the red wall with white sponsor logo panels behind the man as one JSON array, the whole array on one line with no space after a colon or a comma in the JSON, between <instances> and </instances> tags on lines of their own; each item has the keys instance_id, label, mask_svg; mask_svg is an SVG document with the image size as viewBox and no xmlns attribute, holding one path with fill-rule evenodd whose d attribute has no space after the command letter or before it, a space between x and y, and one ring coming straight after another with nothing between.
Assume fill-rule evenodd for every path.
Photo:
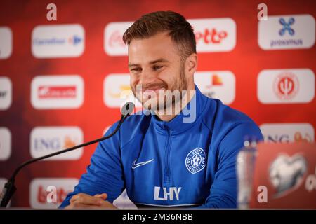
<instances>
[{"instance_id":1,"label":"red wall with white sponsor logo panels behind the man","mask_svg":"<svg viewBox=\"0 0 316 224\"><path fill-rule=\"evenodd\" d=\"M273 14L263 21L257 20L254 3L224 9L219 2L185 1L174 9L195 32L199 90L249 115L266 142L315 141L316 5L295 2L282 8L265 2ZM18 20L13 16L18 7L7 5L17 12L2 19L0 3L0 188L21 162L105 134L125 102L141 109L129 86L128 48L121 37L149 11L145 0L133 8L133 16L123 2L89 8L58 3L58 21L48 22L42 18L45 3L27 3L34 9L32 20L25 15ZM172 1L164 6L174 8ZM95 148L26 167L11 207L58 207L86 172ZM47 202L48 186L56 187L55 203ZM134 207L126 192L115 204Z\"/></svg>"}]
</instances>

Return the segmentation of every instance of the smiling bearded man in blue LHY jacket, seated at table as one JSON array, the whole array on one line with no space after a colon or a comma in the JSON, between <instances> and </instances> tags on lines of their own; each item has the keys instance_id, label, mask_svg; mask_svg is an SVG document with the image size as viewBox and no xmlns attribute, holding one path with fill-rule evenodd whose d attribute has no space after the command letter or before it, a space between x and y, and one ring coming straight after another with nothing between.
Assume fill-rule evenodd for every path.
<instances>
[{"instance_id":1,"label":"smiling bearded man in blue LHY jacket, seated at table","mask_svg":"<svg viewBox=\"0 0 316 224\"><path fill-rule=\"evenodd\" d=\"M244 137L262 134L244 113L205 97L195 85L190 23L170 11L149 13L123 39L131 89L145 110L98 145L60 207L115 208L112 202L126 188L138 207L235 208L237 153Z\"/></svg>"}]
</instances>

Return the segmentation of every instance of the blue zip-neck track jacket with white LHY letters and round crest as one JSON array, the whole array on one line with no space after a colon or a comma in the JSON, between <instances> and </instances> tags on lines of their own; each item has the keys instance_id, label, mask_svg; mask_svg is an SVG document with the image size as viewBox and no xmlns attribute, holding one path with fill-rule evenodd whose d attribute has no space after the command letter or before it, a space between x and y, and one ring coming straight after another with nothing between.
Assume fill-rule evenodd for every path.
<instances>
[{"instance_id":1,"label":"blue zip-neck track jacket with white LHY letters and round crest","mask_svg":"<svg viewBox=\"0 0 316 224\"><path fill-rule=\"evenodd\" d=\"M98 144L60 208L78 193L107 193L113 202L125 188L138 207L236 208L237 153L244 137L262 140L261 131L244 113L195 89L186 107L196 105L195 113L183 110L169 122L154 114L129 116L119 132ZM184 122L190 116L194 122Z\"/></svg>"}]
</instances>

